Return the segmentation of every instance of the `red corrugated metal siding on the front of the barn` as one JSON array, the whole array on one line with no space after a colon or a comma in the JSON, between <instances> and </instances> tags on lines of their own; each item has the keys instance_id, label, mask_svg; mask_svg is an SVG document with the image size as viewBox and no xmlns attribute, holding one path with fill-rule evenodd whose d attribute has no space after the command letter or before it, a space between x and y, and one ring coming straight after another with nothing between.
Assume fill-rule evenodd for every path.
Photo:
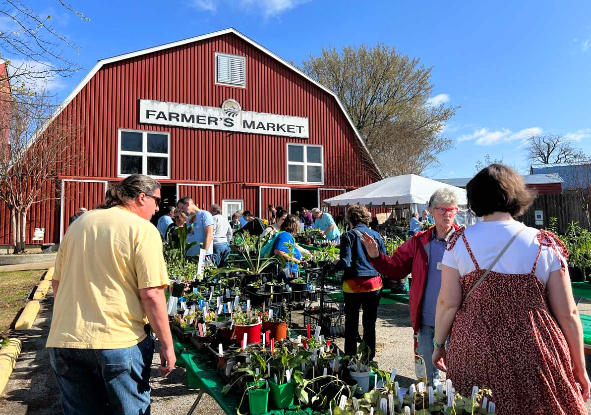
<instances>
[{"instance_id":1,"label":"red corrugated metal siding on the front of the barn","mask_svg":"<svg viewBox=\"0 0 591 415\"><path fill-rule=\"evenodd\" d=\"M216 52L246 57L246 88L215 85ZM139 99L217 107L230 98L243 110L308 117L310 138L139 123ZM362 162L365 150L335 98L232 33L104 64L55 122L71 120L81 126L74 139L86 159L72 166L64 175L67 178L117 181L118 129L123 128L170 133L170 180L163 182L214 182L217 203L242 199L245 209L255 213L266 208L259 207L258 185L290 187L288 142L323 145L320 187L356 188L378 179ZM184 195L202 208L213 202L209 187L183 185L177 197ZM55 216L53 206L46 206L51 213L37 214ZM59 234L59 229L50 228Z\"/></svg>"}]
</instances>

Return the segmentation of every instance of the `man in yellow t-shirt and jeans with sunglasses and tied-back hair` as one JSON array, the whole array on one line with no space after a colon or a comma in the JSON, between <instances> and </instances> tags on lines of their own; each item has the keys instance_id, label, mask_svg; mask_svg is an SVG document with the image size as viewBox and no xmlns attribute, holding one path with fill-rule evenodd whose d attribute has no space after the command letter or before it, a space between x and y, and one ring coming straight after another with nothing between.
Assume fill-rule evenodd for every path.
<instances>
[{"instance_id":1,"label":"man in yellow t-shirt and jeans with sunglasses and tied-back hair","mask_svg":"<svg viewBox=\"0 0 591 415\"><path fill-rule=\"evenodd\" d=\"M47 347L65 415L150 413L154 340L146 318L161 343L158 370L166 376L174 369L168 276L149 221L159 202L158 182L131 175L61 241Z\"/></svg>"}]
</instances>

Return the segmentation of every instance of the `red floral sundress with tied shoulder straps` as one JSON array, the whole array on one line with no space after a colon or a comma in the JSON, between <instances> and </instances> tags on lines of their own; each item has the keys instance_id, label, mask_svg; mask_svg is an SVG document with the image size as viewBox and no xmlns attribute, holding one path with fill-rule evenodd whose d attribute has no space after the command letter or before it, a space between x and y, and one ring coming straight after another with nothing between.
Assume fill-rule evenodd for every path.
<instances>
[{"instance_id":1,"label":"red floral sundress with tied shoulder straps","mask_svg":"<svg viewBox=\"0 0 591 415\"><path fill-rule=\"evenodd\" d=\"M453 234L447 250L460 237L476 267L460 279L465 298L485 269L463 229ZM564 256L566 249L547 231L537 238L540 249L529 274L491 271L457 311L447 377L464 396L475 385L490 389L499 415L586 415L569 347L548 307L548 292L534 275L542 247L561 250Z\"/></svg>"}]
</instances>

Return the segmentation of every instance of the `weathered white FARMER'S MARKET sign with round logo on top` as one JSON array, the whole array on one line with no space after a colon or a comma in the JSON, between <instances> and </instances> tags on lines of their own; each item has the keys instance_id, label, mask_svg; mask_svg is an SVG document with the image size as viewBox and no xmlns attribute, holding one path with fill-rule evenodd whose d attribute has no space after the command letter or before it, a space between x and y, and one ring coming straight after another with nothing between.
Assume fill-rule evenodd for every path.
<instances>
[{"instance_id":1,"label":"weathered white FARMER'S MARKET sign with round logo on top","mask_svg":"<svg viewBox=\"0 0 591 415\"><path fill-rule=\"evenodd\" d=\"M310 137L307 118L243 111L240 104L233 99L225 100L221 107L141 99L139 122L284 137Z\"/></svg>"}]
</instances>

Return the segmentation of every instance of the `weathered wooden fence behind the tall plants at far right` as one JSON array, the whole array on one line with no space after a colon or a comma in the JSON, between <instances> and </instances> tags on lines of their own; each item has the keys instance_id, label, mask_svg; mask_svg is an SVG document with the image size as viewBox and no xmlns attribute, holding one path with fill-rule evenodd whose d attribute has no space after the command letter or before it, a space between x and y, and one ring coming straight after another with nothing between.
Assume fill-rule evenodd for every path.
<instances>
[{"instance_id":1,"label":"weathered wooden fence behind the tall plants at far right","mask_svg":"<svg viewBox=\"0 0 591 415\"><path fill-rule=\"evenodd\" d=\"M543 212L543 225L535 224L535 211L537 210ZM559 233L564 233L570 221L579 222L581 227L591 229L579 198L573 191L564 191L561 195L538 195L531 207L523 215L517 217L517 220L527 226L540 229L548 226L551 217L558 218Z\"/></svg>"}]
</instances>

